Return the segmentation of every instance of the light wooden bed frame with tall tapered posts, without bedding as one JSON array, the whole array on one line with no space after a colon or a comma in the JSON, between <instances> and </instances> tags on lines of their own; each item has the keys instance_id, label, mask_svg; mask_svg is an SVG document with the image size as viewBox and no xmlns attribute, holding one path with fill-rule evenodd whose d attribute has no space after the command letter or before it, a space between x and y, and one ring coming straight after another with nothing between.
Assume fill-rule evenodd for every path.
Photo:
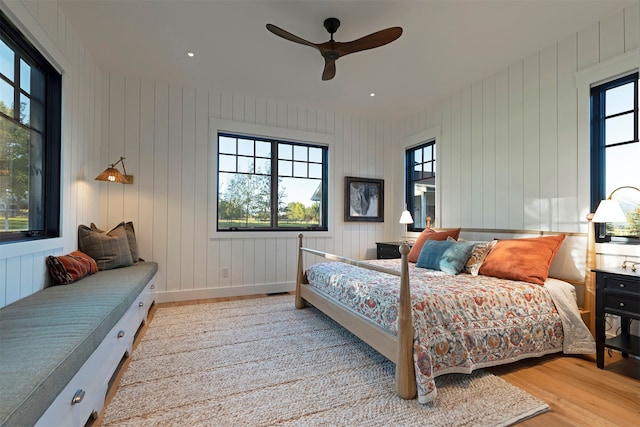
<instances>
[{"instance_id":1,"label":"light wooden bed frame with tall tapered posts, without bedding","mask_svg":"<svg viewBox=\"0 0 640 427\"><path fill-rule=\"evenodd\" d=\"M592 216L592 214L590 214ZM574 285L584 285L584 307L581 308L582 318L593 334L594 304L595 304L595 284L591 270L595 268L595 236L589 220L589 233L587 235L587 262L585 271L585 282ZM400 245L401 269L400 273L363 261L334 255L311 248L306 248L302 244L303 235L298 235L298 272L296 278L296 308L305 308L307 303L316 307L324 314L338 322L345 329L356 335L362 341L369 344L380 354L395 363L396 365L396 392L402 399L414 399L416 397L416 377L413 364L413 315L411 312L411 292L409 286L409 264L407 255L409 246L407 243ZM303 266L304 252L321 256L331 261L339 261L346 264L363 267L400 277L400 299L398 302L398 335L394 336L363 316L352 312L341 305L336 304L332 299L327 298L322 293L316 291L308 284Z\"/></svg>"}]
</instances>

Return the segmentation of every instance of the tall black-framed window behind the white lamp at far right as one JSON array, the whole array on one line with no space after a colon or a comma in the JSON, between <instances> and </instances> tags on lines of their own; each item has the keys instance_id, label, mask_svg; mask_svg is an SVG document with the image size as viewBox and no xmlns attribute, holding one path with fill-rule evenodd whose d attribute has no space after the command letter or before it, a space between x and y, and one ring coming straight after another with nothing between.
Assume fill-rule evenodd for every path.
<instances>
[{"instance_id":1,"label":"tall black-framed window behind the white lamp at far right","mask_svg":"<svg viewBox=\"0 0 640 427\"><path fill-rule=\"evenodd\" d=\"M640 188L638 73L591 89L591 208L619 187ZM613 195L628 224L595 224L599 242L640 243L640 192L628 188Z\"/></svg>"}]
</instances>

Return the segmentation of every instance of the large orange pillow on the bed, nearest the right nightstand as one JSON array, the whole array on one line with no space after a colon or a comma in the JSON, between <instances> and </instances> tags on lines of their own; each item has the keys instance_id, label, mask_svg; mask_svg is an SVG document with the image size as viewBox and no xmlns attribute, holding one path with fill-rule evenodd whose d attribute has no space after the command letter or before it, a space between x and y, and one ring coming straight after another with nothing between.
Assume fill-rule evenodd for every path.
<instances>
[{"instance_id":1,"label":"large orange pillow on the bed, nearest the right nightstand","mask_svg":"<svg viewBox=\"0 0 640 427\"><path fill-rule=\"evenodd\" d=\"M479 274L544 285L564 234L498 240L480 265Z\"/></svg>"}]
</instances>

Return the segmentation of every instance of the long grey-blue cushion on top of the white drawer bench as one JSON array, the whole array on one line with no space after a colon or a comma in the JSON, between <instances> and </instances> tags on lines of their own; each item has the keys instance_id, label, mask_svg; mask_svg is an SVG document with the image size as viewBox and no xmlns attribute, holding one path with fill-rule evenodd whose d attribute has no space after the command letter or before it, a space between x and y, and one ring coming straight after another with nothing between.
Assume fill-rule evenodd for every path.
<instances>
[{"instance_id":1,"label":"long grey-blue cushion on top of the white drawer bench","mask_svg":"<svg viewBox=\"0 0 640 427\"><path fill-rule=\"evenodd\" d=\"M33 425L158 269L100 271L0 309L0 425Z\"/></svg>"}]
</instances>

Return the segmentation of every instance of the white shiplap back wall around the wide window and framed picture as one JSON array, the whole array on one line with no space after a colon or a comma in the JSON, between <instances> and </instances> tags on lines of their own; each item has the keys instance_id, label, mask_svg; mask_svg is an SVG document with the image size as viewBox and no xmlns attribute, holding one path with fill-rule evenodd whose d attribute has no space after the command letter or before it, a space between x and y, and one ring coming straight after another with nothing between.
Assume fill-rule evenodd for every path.
<instances>
[{"instance_id":1,"label":"white shiplap back wall around the wide window and framed picture","mask_svg":"<svg viewBox=\"0 0 640 427\"><path fill-rule=\"evenodd\" d=\"M128 76L107 76L103 87L102 156L125 156L135 182L101 184L100 205L106 208L98 226L134 222L141 256L160 265L161 301L293 287L295 237L209 238L215 195L209 161L212 119L233 121L239 128L261 125L276 132L332 135L332 237L307 242L354 258L375 257L375 242L389 223L344 223L341 195L344 176L385 177L385 159L393 156L391 124ZM387 215L392 212L387 205Z\"/></svg>"}]
</instances>

